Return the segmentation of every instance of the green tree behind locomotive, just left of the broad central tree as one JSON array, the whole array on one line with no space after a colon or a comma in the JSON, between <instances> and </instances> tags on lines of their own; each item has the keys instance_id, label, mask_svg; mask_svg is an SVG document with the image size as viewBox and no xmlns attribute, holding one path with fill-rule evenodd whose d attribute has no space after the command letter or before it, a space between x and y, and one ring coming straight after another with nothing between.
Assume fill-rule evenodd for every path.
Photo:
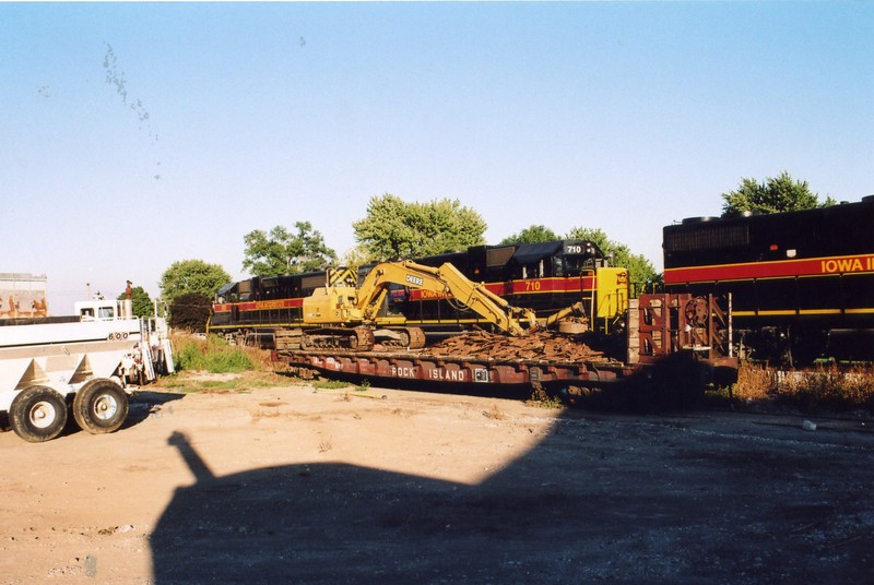
<instances>
[{"instance_id":1,"label":"green tree behind locomotive, just left of the broad central tree","mask_svg":"<svg viewBox=\"0 0 874 585\"><path fill-rule=\"evenodd\" d=\"M279 276L322 270L336 263L336 252L328 248L309 222L296 222L297 234L276 226L265 234L256 229L243 237L246 243L243 268L258 276Z\"/></svg>"}]
</instances>

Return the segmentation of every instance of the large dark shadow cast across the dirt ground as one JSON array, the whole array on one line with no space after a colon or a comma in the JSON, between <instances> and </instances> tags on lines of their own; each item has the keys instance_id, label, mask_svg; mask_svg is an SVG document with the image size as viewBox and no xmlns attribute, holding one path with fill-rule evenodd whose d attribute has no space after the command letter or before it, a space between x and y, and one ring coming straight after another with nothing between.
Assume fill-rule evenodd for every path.
<instances>
[{"instance_id":1,"label":"large dark shadow cast across the dirt ground","mask_svg":"<svg viewBox=\"0 0 874 585\"><path fill-rule=\"evenodd\" d=\"M197 482L152 536L157 584L870 583L874 439L707 416L565 411L480 485L340 464Z\"/></svg>"}]
</instances>

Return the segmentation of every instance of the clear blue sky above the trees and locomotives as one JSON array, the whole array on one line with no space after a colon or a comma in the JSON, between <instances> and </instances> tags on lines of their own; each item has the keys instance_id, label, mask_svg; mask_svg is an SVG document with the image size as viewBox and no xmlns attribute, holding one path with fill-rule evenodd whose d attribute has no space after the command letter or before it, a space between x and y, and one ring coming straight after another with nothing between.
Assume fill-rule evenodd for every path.
<instances>
[{"instance_id":1,"label":"clear blue sky above the trees and locomotives","mask_svg":"<svg viewBox=\"0 0 874 585\"><path fill-rule=\"evenodd\" d=\"M72 309L373 195L650 258L743 177L874 193L874 2L0 3L0 272Z\"/></svg>"}]
</instances>

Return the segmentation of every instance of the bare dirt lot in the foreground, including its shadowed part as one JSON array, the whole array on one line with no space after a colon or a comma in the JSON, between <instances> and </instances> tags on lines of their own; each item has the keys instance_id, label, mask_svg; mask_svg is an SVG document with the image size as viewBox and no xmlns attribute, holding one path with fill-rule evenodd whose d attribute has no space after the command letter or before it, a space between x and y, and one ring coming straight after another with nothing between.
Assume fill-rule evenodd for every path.
<instances>
[{"instance_id":1,"label":"bare dirt lot in the foreground, including its shadowed part","mask_svg":"<svg viewBox=\"0 0 874 585\"><path fill-rule=\"evenodd\" d=\"M0 433L0 582L871 583L874 434L813 422L147 392L115 434Z\"/></svg>"}]
</instances>

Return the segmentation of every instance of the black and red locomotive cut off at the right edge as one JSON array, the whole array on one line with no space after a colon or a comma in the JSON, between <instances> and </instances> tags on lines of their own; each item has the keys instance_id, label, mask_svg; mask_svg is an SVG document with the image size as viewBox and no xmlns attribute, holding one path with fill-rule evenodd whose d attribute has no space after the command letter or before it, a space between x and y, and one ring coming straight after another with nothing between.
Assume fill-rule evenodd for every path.
<instances>
[{"instance_id":1,"label":"black and red locomotive cut off at the right edge","mask_svg":"<svg viewBox=\"0 0 874 585\"><path fill-rule=\"evenodd\" d=\"M874 195L663 229L668 292L731 294L742 357L874 358Z\"/></svg>"}]
</instances>

